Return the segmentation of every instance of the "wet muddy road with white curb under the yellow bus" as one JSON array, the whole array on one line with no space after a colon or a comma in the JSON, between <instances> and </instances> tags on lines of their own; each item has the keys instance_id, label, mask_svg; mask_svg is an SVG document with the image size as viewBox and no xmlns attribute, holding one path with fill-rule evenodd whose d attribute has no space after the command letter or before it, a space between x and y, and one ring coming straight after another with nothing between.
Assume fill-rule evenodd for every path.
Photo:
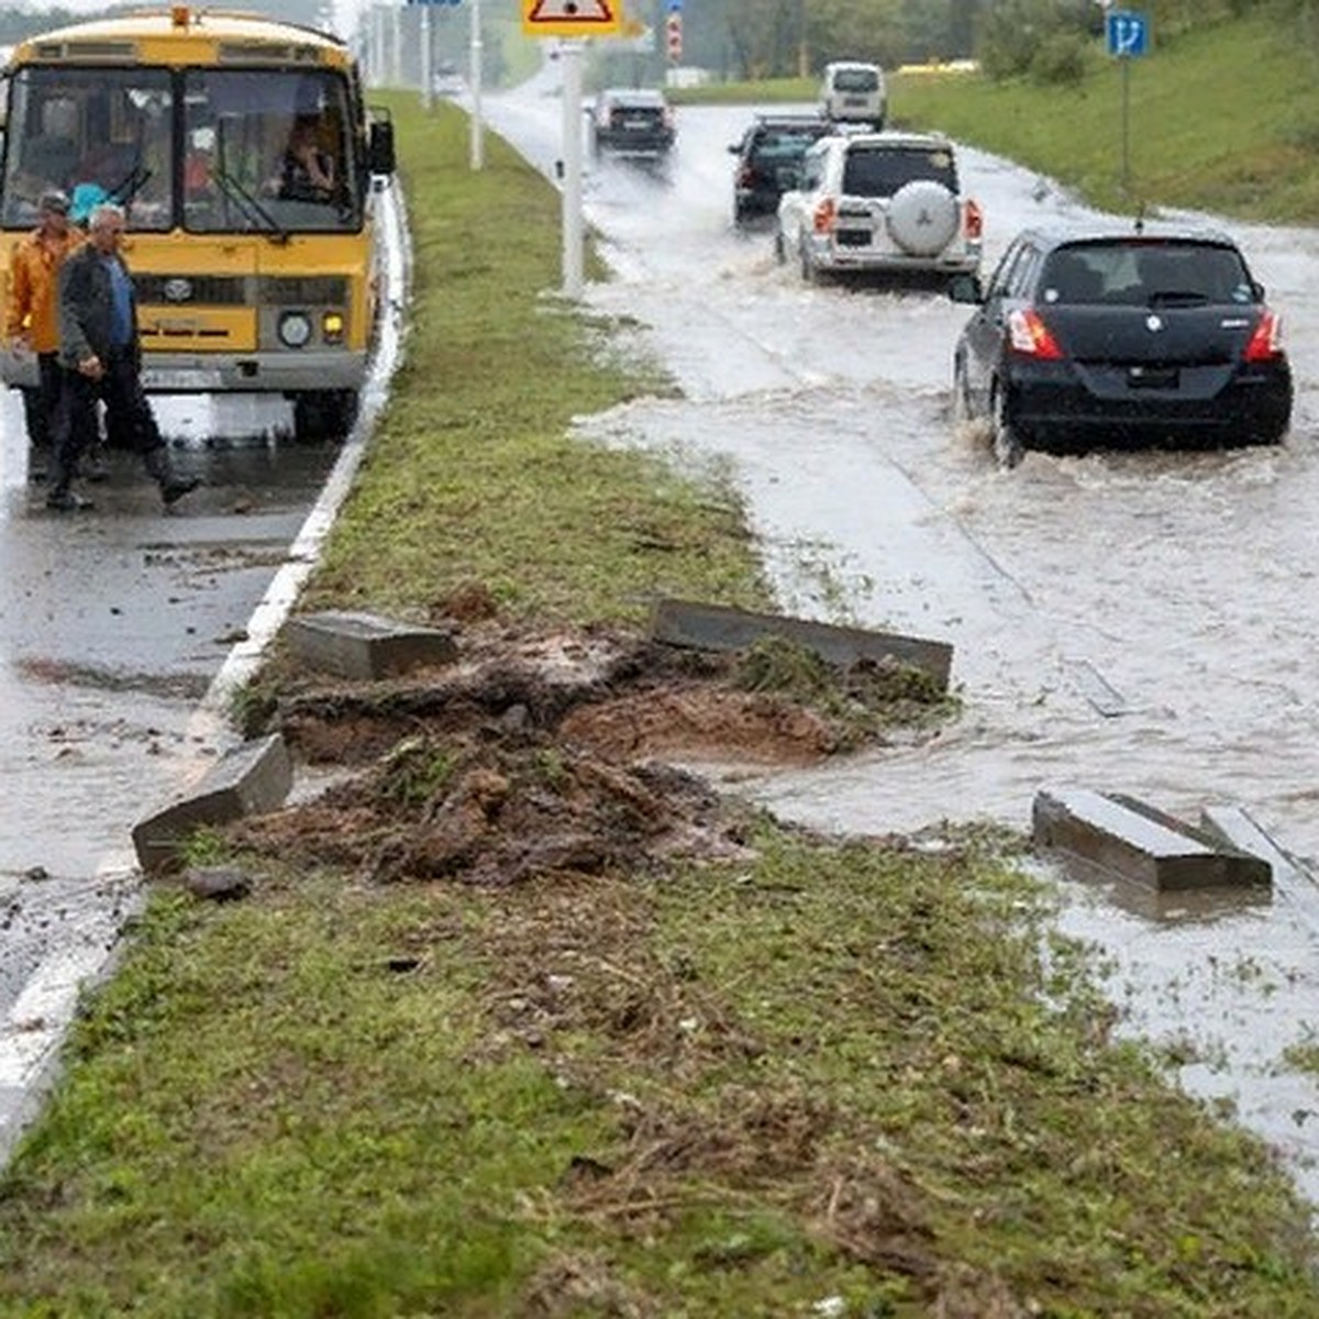
<instances>
[{"instance_id":1,"label":"wet muddy road with white curb under the yellow bus","mask_svg":"<svg viewBox=\"0 0 1319 1319\"><path fill-rule=\"evenodd\" d=\"M393 194L388 297L406 249ZM78 983L138 900L132 826L237 740L226 703L310 571L397 357L384 318L347 442L294 443L282 398L154 398L181 472L170 510L129 454L45 506L18 396L0 394L0 1162L29 1116Z\"/></svg>"}]
</instances>

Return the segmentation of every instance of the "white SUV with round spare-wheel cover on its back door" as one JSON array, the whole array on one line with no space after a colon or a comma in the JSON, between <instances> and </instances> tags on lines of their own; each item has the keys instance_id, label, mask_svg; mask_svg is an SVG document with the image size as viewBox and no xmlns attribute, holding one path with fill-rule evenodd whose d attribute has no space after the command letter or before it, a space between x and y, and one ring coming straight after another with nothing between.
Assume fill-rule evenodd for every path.
<instances>
[{"instance_id":1,"label":"white SUV with round spare-wheel cover on its back door","mask_svg":"<svg viewBox=\"0 0 1319 1319\"><path fill-rule=\"evenodd\" d=\"M778 203L774 251L820 273L976 273L981 212L942 133L823 137Z\"/></svg>"}]
</instances>

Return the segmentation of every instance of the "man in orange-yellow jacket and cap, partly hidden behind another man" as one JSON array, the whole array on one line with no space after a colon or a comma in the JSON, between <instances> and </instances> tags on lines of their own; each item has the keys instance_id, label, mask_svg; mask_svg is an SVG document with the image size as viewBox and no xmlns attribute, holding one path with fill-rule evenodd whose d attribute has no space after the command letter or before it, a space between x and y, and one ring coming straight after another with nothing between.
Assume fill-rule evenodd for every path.
<instances>
[{"instance_id":1,"label":"man in orange-yellow jacket and cap, partly hidden behind another man","mask_svg":"<svg viewBox=\"0 0 1319 1319\"><path fill-rule=\"evenodd\" d=\"M22 410L29 443L49 450L65 381L59 367L59 268L86 235L69 224L63 193L42 193L37 216L40 223L13 252L4 340L11 350L37 355L40 384L22 390Z\"/></svg>"}]
</instances>

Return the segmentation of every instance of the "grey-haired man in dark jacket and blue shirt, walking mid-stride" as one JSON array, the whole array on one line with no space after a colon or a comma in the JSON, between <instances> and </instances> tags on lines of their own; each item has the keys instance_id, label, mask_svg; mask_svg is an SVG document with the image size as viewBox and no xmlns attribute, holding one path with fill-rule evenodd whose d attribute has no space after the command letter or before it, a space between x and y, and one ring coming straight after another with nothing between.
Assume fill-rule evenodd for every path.
<instances>
[{"instance_id":1,"label":"grey-haired man in dark jacket and blue shirt, walking mid-stride","mask_svg":"<svg viewBox=\"0 0 1319 1319\"><path fill-rule=\"evenodd\" d=\"M104 203L92 212L88 241L59 270L59 364L65 371L65 406L55 438L49 508L90 508L75 495L78 459L98 435L96 402L104 398L116 425L132 437L161 497L174 504L200 481L174 474L152 406L142 392L141 344L133 281L119 255L123 207Z\"/></svg>"}]
</instances>

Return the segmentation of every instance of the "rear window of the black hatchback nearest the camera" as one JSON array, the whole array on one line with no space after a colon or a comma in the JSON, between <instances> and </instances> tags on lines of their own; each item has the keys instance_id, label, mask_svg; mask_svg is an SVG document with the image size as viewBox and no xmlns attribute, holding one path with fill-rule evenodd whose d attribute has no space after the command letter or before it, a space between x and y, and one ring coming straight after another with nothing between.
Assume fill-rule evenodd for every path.
<instances>
[{"instance_id":1,"label":"rear window of the black hatchback nearest the camera","mask_svg":"<svg viewBox=\"0 0 1319 1319\"><path fill-rule=\"evenodd\" d=\"M1045 302L1254 301L1241 253L1219 243L1129 240L1055 248L1039 280Z\"/></svg>"}]
</instances>

